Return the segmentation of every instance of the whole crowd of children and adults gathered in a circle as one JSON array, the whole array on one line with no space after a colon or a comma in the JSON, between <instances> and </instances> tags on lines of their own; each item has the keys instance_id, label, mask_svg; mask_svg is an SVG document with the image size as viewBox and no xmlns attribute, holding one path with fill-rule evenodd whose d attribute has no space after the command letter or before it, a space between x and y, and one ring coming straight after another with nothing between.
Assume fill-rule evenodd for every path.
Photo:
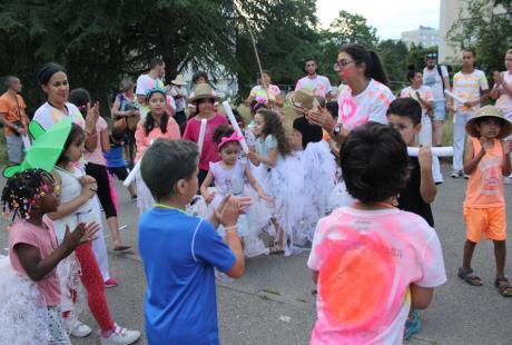
<instances>
[{"instance_id":1,"label":"whole crowd of children and adults gathered in a circle","mask_svg":"<svg viewBox=\"0 0 512 345\"><path fill-rule=\"evenodd\" d=\"M2 201L13 223L9 257L0 258L0 312L12 317L1 318L0 343L70 344L69 335L88 336L91 327L79 321L82 290L101 344L140 337L114 322L105 295L118 282L101 218L112 249L130 249L118 221L124 191L112 183L130 171L135 184L126 193L140 210L149 344L218 344L216 277L242 277L246 257L308 247L317 284L311 343L402 343L420 332L419 309L446 282L431 204L443 183L434 148L451 112L451 177L469 178L457 276L483 284L471 260L485 236L495 248L498 292L512 296L504 270L512 50L492 90L475 59L464 49L451 82L427 53L426 67L411 66L410 86L395 97L377 53L347 45L334 65L335 88L317 75L314 58L304 60L306 76L286 97L263 71L245 100L247 125L236 109L235 122L218 111L221 97L207 73L196 72L187 91L180 75L164 82L157 58L137 82L121 80L111 126L86 89L70 90L60 65L40 69L47 101L32 119L20 80L8 77L0 122L11 165ZM483 106L489 98L495 103ZM36 152L43 165L29 159Z\"/></svg>"}]
</instances>

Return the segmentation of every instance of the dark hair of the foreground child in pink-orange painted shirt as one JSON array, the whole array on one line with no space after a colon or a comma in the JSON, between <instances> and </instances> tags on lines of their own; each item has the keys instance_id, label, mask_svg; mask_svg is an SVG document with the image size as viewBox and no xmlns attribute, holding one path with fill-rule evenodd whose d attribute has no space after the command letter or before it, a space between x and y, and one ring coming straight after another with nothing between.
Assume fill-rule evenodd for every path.
<instances>
[{"instance_id":1,"label":"dark hair of the foreground child in pink-orange painted shirt","mask_svg":"<svg viewBox=\"0 0 512 345\"><path fill-rule=\"evenodd\" d=\"M343 142L339 157L346 188L361 203L384 201L407 183L407 146L390 126L358 126Z\"/></svg>"}]
</instances>

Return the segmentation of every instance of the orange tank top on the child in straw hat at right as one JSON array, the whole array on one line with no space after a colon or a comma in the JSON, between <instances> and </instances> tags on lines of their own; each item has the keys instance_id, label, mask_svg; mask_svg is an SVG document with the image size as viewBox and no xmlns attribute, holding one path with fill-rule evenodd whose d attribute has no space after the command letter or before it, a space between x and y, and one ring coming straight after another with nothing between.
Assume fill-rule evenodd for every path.
<instances>
[{"instance_id":1,"label":"orange tank top on the child in straw hat at right","mask_svg":"<svg viewBox=\"0 0 512 345\"><path fill-rule=\"evenodd\" d=\"M475 155L482 149L480 140L471 138ZM488 149L479 165L470 176L464 206L474 208L505 206L503 194L503 148L499 139L494 139L492 149Z\"/></svg>"}]
</instances>

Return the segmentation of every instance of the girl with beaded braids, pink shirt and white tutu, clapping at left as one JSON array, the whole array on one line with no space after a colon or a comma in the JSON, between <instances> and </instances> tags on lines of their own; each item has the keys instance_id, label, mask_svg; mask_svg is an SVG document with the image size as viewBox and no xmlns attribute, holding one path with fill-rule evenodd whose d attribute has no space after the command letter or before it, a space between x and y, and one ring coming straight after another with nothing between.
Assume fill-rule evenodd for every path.
<instances>
[{"instance_id":1,"label":"girl with beaded braids, pink shirt and white tutu, clapping at left","mask_svg":"<svg viewBox=\"0 0 512 345\"><path fill-rule=\"evenodd\" d=\"M9 258L0 258L0 344L71 344L62 326L57 265L99 225L66 228L58 245L46 214L58 208L52 176L40 169L17 172L2 193L4 210L18 217L9 231ZM10 265L8 263L10 260Z\"/></svg>"}]
</instances>

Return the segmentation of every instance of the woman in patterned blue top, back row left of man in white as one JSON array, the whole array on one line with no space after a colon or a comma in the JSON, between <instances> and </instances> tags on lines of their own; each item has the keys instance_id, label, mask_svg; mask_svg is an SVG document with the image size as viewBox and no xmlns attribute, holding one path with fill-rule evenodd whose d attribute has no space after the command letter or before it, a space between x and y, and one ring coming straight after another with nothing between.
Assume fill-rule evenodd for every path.
<instances>
[{"instance_id":1,"label":"woman in patterned blue top, back row left of man in white","mask_svg":"<svg viewBox=\"0 0 512 345\"><path fill-rule=\"evenodd\" d=\"M137 124L140 121L140 111L137 105L137 97L134 92L135 83L130 78L125 78L119 83L121 93L116 96L112 108L110 109L111 115L116 120L122 119L126 127L126 141L125 152L128 158L128 166L134 166L135 158L135 130Z\"/></svg>"}]
</instances>

